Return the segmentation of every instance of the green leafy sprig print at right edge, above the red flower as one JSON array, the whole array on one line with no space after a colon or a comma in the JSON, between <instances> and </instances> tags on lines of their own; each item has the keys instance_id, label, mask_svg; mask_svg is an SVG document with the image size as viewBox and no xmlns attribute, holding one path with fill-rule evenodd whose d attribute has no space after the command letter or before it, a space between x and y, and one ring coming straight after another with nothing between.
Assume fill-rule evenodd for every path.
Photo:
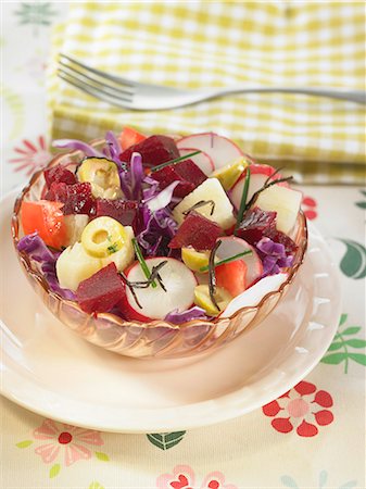
<instances>
[{"instance_id":1,"label":"green leafy sprig print at right edge, above the red flower","mask_svg":"<svg viewBox=\"0 0 366 489\"><path fill-rule=\"evenodd\" d=\"M333 342L328 348L327 353L320 360L321 363L327 363L330 365L339 365L344 362L344 374L349 371L349 361L358 363L359 365L366 365L366 354L354 353L350 351L351 349L363 349L366 348L366 341L359 338L349 338L352 335L359 333L359 326L349 326L343 331L341 328L345 325L346 314L342 314L339 323L338 333L333 338ZM338 351L342 350L342 351ZM337 351L337 353L330 353Z\"/></svg>"}]
</instances>

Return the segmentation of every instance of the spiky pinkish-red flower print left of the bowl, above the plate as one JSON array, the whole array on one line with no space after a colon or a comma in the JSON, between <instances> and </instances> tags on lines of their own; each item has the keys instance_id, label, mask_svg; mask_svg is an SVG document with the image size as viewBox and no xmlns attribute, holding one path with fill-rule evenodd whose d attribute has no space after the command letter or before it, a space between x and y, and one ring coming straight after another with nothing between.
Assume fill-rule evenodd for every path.
<instances>
[{"instance_id":1,"label":"spiky pinkish-red flower print left of the bowl, above the plate","mask_svg":"<svg viewBox=\"0 0 366 489\"><path fill-rule=\"evenodd\" d=\"M18 158L9 160L15 165L15 172L26 170L27 175L31 175L36 170L39 170L49 163L52 154L48 151L43 136L39 136L38 140L33 143L28 139L23 139L23 147L14 148Z\"/></svg>"}]
</instances>

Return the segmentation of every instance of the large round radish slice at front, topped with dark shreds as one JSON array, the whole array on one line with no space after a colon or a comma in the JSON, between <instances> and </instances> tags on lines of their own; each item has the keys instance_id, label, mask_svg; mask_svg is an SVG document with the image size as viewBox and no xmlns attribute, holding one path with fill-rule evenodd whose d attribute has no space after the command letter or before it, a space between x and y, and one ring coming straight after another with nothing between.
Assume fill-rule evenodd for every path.
<instances>
[{"instance_id":1,"label":"large round radish slice at front, topped with dark shreds","mask_svg":"<svg viewBox=\"0 0 366 489\"><path fill-rule=\"evenodd\" d=\"M162 277L166 292L159 285L157 280L156 288L152 288L152 286L146 289L135 288L138 301L142 306L140 309L127 287L127 304L124 304L124 306L129 318L137 318L139 321L163 319L173 310L178 310L178 312L186 311L193 304L194 287L197 286L193 272L175 259L157 256L146 260L150 271L163 261L167 261L167 263L161 268L160 276ZM127 278L129 281L146 280L139 263L134 264L129 268Z\"/></svg>"}]
</instances>

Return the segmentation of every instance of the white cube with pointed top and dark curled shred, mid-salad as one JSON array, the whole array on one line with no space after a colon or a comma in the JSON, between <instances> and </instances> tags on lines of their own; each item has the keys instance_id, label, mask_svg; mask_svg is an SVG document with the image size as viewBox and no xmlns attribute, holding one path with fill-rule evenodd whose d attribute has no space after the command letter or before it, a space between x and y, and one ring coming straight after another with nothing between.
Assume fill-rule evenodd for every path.
<instances>
[{"instance_id":1,"label":"white cube with pointed top and dark curled shred, mid-salad","mask_svg":"<svg viewBox=\"0 0 366 489\"><path fill-rule=\"evenodd\" d=\"M210 202L207 202L206 205L195 209L197 212L204 215L207 220L214 221L223 229L228 229L235 224L236 220L232 215L232 204L217 178L207 178L192 192L188 193L188 196L174 208L173 217L180 225L186 217L184 212L200 201L214 201L215 203L212 214L213 206Z\"/></svg>"}]
</instances>

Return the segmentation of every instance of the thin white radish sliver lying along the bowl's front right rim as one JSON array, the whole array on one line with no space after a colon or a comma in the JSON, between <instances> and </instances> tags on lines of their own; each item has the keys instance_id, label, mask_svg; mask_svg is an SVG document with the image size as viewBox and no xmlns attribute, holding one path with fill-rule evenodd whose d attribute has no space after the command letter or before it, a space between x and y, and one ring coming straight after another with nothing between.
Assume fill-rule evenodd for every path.
<instances>
[{"instance_id":1,"label":"thin white radish sliver lying along the bowl's front right rim","mask_svg":"<svg viewBox=\"0 0 366 489\"><path fill-rule=\"evenodd\" d=\"M234 298L220 314L220 317L230 317L241 308L257 305L264 296L277 290L287 278L288 274L277 274L262 278L262 280L254 284L250 289Z\"/></svg>"}]
</instances>

